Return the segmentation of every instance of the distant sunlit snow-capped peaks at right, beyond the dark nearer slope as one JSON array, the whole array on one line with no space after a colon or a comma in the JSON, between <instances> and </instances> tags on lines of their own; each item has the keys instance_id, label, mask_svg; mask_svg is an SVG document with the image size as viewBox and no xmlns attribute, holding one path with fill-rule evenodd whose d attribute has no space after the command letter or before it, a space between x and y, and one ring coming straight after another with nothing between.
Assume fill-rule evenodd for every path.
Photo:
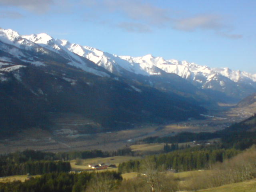
<instances>
[{"instance_id":1,"label":"distant sunlit snow-capped peaks at right, beyond the dark nearer slope","mask_svg":"<svg viewBox=\"0 0 256 192\"><path fill-rule=\"evenodd\" d=\"M121 58L127 59L124 56ZM247 72L232 71L228 68L210 68L186 61L164 60L151 55L129 58L129 60L144 66L146 64L156 66L167 73L175 73L198 88L217 90L238 98L244 98L256 91L256 75Z\"/></svg>"}]
</instances>

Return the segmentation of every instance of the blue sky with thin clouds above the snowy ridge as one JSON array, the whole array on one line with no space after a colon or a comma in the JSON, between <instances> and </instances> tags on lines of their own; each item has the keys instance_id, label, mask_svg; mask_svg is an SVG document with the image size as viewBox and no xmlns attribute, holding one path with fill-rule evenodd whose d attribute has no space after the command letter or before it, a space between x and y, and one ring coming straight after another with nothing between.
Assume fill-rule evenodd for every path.
<instances>
[{"instance_id":1,"label":"blue sky with thin clouds above the snowy ridge","mask_svg":"<svg viewBox=\"0 0 256 192\"><path fill-rule=\"evenodd\" d=\"M0 0L0 27L256 73L256 0Z\"/></svg>"}]
</instances>

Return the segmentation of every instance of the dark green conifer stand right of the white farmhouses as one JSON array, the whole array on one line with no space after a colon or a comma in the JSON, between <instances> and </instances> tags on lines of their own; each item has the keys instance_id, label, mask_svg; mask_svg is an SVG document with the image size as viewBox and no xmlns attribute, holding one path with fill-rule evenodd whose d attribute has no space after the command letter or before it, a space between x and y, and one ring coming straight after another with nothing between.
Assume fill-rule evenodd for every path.
<instances>
[{"instance_id":1,"label":"dark green conifer stand right of the white farmhouses","mask_svg":"<svg viewBox=\"0 0 256 192\"><path fill-rule=\"evenodd\" d=\"M238 154L240 150L236 149L216 149L207 150L201 148L188 148L185 150L176 150L166 154L158 154L146 157L144 160L156 164L156 169L173 170L174 172L198 170L209 168L216 162L223 162ZM130 160L119 164L118 171L140 172L141 164L144 160Z\"/></svg>"}]
</instances>

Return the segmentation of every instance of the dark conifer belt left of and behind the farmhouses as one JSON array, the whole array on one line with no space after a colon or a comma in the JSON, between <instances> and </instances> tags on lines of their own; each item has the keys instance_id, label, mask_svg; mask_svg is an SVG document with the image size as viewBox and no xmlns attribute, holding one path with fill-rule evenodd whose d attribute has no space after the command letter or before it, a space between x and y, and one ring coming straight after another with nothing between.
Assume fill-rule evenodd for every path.
<instances>
[{"instance_id":1,"label":"dark conifer belt left of and behind the farmhouses","mask_svg":"<svg viewBox=\"0 0 256 192\"><path fill-rule=\"evenodd\" d=\"M50 172L69 172L71 170L68 160L86 159L95 157L109 157L118 155L133 155L130 148L112 152L102 150L74 151L74 152L42 152L25 150L11 154L0 155L0 176L22 174L44 174Z\"/></svg>"}]
</instances>

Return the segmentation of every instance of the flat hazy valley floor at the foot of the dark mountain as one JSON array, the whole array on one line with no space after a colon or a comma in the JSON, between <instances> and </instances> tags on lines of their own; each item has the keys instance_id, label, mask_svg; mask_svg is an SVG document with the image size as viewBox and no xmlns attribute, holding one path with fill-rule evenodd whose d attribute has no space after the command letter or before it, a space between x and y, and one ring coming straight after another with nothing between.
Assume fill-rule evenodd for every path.
<instances>
[{"instance_id":1,"label":"flat hazy valley floor at the foot of the dark mountain","mask_svg":"<svg viewBox=\"0 0 256 192\"><path fill-rule=\"evenodd\" d=\"M190 118L187 121L166 124L138 124L134 128L101 131L100 125L74 113L50 113L50 130L30 128L16 132L11 138L0 140L2 154L26 149L50 152L83 151L101 149L116 151L131 146L147 137L174 136L181 132L215 132L253 114L234 106L212 109L205 119ZM84 126L88 126L87 132ZM82 132L81 132L82 129ZM91 129L91 130L90 130ZM96 129L96 130L95 130ZM153 147L154 148L154 147Z\"/></svg>"}]
</instances>

